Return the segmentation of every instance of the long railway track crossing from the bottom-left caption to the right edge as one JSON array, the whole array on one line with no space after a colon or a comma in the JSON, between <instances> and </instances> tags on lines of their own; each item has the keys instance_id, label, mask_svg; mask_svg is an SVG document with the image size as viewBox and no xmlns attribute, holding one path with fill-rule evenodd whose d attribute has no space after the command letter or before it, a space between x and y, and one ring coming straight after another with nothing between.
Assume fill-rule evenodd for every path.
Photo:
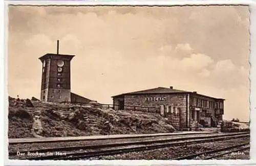
<instances>
[{"instance_id":1,"label":"long railway track crossing from the bottom-left caption to the right edge","mask_svg":"<svg viewBox=\"0 0 256 166\"><path fill-rule=\"evenodd\" d=\"M191 136L191 137L179 137L175 139L154 140L154 141L142 141L142 142L127 142L127 143L115 143L105 145L90 145L90 146L75 146L75 147L62 147L62 148L48 148L38 149L34 151L20 151L20 153L48 153L48 152L60 152L65 155L37 155L26 156L19 159L31 159L31 160L44 160L44 159L63 159L63 160L76 160L76 159L88 159L96 156L115 155L127 152L145 151L152 149L159 149L171 146L181 146L187 144L198 144L222 140L236 139L239 137L248 137L249 133L229 133L222 135L211 136ZM89 151L88 151L89 150ZM74 152L75 151L75 152ZM82 152L81 152L82 151ZM16 155L16 152L9 152L9 156Z\"/></svg>"}]
</instances>

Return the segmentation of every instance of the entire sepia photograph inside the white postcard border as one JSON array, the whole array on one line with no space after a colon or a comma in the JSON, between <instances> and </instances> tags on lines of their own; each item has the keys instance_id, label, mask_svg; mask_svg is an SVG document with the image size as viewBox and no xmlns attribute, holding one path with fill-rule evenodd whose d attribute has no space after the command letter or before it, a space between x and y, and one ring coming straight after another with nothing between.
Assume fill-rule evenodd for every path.
<instances>
[{"instance_id":1,"label":"entire sepia photograph inside the white postcard border","mask_svg":"<svg viewBox=\"0 0 256 166\"><path fill-rule=\"evenodd\" d=\"M9 159L249 160L249 18L9 5Z\"/></svg>"}]
</instances>

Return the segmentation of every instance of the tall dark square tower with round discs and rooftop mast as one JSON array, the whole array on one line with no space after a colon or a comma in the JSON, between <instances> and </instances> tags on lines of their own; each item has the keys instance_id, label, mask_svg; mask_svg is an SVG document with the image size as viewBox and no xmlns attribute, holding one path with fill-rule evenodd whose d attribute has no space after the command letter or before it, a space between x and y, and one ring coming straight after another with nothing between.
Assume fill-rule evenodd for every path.
<instances>
[{"instance_id":1,"label":"tall dark square tower with round discs and rooftop mast","mask_svg":"<svg viewBox=\"0 0 256 166\"><path fill-rule=\"evenodd\" d=\"M74 56L59 54L59 41L57 53L47 53L40 57L42 62L41 101L71 102L70 92L70 64Z\"/></svg>"}]
</instances>

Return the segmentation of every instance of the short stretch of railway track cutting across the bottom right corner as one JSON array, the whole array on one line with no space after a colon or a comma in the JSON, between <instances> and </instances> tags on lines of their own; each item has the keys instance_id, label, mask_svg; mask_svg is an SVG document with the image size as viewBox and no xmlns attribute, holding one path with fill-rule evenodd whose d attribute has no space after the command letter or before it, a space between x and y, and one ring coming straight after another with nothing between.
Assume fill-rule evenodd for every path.
<instances>
[{"instance_id":1,"label":"short stretch of railway track cutting across the bottom right corner","mask_svg":"<svg viewBox=\"0 0 256 166\"><path fill-rule=\"evenodd\" d=\"M242 148L239 148L242 147ZM246 149L250 148L250 143L244 143L244 144L238 144L238 145L233 145L221 149L215 149L215 150L210 150L206 152L200 152L192 155L187 155L187 156L182 156L182 157L177 157L177 158L172 158L172 160L183 160L183 159L212 159L216 157L220 157L226 154L230 154L232 152L238 152L238 151L243 151ZM222 152L222 153L221 153Z\"/></svg>"}]
</instances>

